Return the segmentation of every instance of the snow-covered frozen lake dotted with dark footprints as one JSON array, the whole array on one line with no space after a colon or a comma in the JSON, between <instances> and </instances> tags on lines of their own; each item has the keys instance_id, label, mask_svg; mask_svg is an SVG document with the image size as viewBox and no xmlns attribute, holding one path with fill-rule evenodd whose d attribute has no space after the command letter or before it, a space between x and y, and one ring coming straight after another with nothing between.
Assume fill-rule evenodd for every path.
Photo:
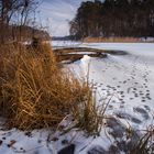
<instances>
[{"instance_id":1,"label":"snow-covered frozen lake dotted with dark footprints","mask_svg":"<svg viewBox=\"0 0 154 154\"><path fill-rule=\"evenodd\" d=\"M108 58L85 56L70 66L80 75L89 69L89 81L99 94L98 103L111 98L108 113L138 129L154 124L154 44L91 43L81 47L128 52L128 55L108 55Z\"/></svg>"}]
</instances>

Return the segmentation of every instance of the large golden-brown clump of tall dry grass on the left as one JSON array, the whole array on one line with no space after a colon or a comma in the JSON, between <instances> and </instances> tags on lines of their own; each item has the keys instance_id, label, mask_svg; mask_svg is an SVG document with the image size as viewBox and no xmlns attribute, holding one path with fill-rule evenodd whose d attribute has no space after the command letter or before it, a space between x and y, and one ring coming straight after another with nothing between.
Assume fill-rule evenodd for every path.
<instances>
[{"instance_id":1,"label":"large golden-brown clump of tall dry grass on the left","mask_svg":"<svg viewBox=\"0 0 154 154\"><path fill-rule=\"evenodd\" d=\"M1 53L0 113L8 127L51 128L70 113L84 130L95 123L97 111L91 112L96 105L88 84L61 69L50 45L28 48L10 44L1 46Z\"/></svg>"}]
</instances>

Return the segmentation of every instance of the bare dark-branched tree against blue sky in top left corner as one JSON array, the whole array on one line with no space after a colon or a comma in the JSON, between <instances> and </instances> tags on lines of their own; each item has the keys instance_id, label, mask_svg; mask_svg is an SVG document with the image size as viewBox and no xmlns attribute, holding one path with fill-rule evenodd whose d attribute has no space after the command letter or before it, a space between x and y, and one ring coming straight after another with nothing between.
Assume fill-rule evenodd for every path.
<instances>
[{"instance_id":1,"label":"bare dark-branched tree against blue sky in top left corner","mask_svg":"<svg viewBox=\"0 0 154 154\"><path fill-rule=\"evenodd\" d=\"M29 23L31 14L34 12L34 10L36 10L38 3L40 0L0 0L1 42L4 42L6 37L8 38L9 36L9 25L11 24L12 19L14 20L14 23L20 28L19 38L21 40L22 28ZM14 26L12 26L12 37L14 38Z\"/></svg>"}]
</instances>

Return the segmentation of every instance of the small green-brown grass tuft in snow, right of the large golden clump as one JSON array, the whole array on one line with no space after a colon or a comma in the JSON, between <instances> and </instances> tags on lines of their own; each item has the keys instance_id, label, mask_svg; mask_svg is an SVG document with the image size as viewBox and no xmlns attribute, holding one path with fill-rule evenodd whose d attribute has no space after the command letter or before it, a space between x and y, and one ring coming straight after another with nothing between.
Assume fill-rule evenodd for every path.
<instances>
[{"instance_id":1,"label":"small green-brown grass tuft in snow, right of the large golden clump","mask_svg":"<svg viewBox=\"0 0 154 154\"><path fill-rule=\"evenodd\" d=\"M105 108L97 106L91 91L87 95L87 100L74 109L74 118L77 120L76 128L80 128L88 135L99 135L105 119Z\"/></svg>"}]
</instances>

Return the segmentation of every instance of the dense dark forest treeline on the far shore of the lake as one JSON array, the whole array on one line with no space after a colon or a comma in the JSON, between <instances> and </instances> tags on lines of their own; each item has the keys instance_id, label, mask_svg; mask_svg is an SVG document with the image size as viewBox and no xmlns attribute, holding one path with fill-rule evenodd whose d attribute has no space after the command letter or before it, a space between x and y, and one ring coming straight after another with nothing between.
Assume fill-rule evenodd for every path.
<instances>
[{"instance_id":1,"label":"dense dark forest treeline on the far shore of the lake","mask_svg":"<svg viewBox=\"0 0 154 154\"><path fill-rule=\"evenodd\" d=\"M70 22L76 38L154 36L154 0L105 0L82 2Z\"/></svg>"}]
</instances>

